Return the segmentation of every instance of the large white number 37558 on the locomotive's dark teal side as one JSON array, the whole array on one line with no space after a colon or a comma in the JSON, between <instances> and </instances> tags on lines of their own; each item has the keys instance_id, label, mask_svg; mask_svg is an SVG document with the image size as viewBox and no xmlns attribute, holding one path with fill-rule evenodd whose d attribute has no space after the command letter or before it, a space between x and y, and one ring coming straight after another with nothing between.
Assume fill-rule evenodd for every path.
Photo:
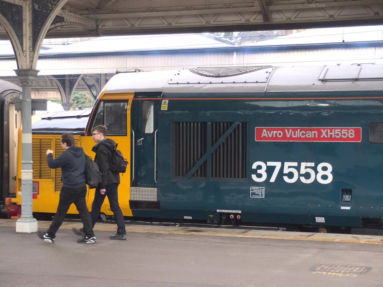
<instances>
[{"instance_id":1,"label":"large white number 37558 on the locomotive's dark teal side","mask_svg":"<svg viewBox=\"0 0 383 287\"><path fill-rule=\"evenodd\" d=\"M275 182L275 179L277 178L278 172L281 169L282 162L280 161L268 161L267 163L264 163L263 161L257 161L254 162L252 168L256 169L256 174L252 174L251 177L256 182L263 182L267 179L267 173L266 168L267 166L275 166L274 172L270 178L270 182ZM301 182L305 184L311 184L315 179L321 183L321 184L329 184L332 181L332 166L331 164L327 162L322 162L318 164L317 171L318 173L315 174L314 169L311 169L310 167L314 167L314 162L301 162L300 166L300 173L301 176L298 174L298 170L294 167L298 167L298 162L285 162L283 166L283 174L286 174L283 176L283 179L285 182L293 183L298 180L298 178L301 180ZM323 170L323 168L326 168ZM292 177L291 177L292 174ZM305 174L309 174L309 178L305 178ZM326 175L326 176L324 176Z\"/></svg>"}]
</instances>

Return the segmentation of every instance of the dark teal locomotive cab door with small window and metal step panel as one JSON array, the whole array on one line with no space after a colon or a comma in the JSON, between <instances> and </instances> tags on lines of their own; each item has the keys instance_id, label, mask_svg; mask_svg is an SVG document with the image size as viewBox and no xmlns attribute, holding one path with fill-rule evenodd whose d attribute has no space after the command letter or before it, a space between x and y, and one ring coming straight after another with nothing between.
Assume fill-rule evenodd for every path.
<instances>
[{"instance_id":1,"label":"dark teal locomotive cab door with small window and metal step panel","mask_svg":"<svg viewBox=\"0 0 383 287\"><path fill-rule=\"evenodd\" d=\"M135 93L130 200L157 202L157 115L162 93ZM133 158L134 157L134 158Z\"/></svg>"}]
</instances>

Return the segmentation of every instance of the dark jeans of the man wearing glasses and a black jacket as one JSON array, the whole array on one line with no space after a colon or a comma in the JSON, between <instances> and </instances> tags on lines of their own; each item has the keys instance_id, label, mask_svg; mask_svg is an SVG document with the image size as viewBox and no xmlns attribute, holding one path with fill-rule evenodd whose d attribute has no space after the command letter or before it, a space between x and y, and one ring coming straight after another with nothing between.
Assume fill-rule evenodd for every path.
<instances>
[{"instance_id":1,"label":"dark jeans of the man wearing glasses and a black jacket","mask_svg":"<svg viewBox=\"0 0 383 287\"><path fill-rule=\"evenodd\" d=\"M101 205L107 196L110 203L110 210L115 214L117 221L117 233L126 235L124 216L122 214L121 208L118 205L118 184L108 185L105 189L105 194L101 194L100 188L97 188L95 191L95 199L93 200L92 211L90 212L90 216L92 217L92 224L95 226L98 220L98 216L100 216Z\"/></svg>"}]
</instances>

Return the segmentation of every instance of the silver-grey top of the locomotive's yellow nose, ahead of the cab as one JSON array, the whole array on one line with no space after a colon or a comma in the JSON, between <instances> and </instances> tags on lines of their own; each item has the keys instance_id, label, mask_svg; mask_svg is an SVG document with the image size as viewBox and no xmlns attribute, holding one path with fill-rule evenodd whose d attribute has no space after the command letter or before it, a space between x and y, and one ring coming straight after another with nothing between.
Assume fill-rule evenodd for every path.
<instances>
[{"instance_id":1,"label":"silver-grey top of the locomotive's yellow nose, ahead of the cab","mask_svg":"<svg viewBox=\"0 0 383 287\"><path fill-rule=\"evenodd\" d=\"M46 114L32 125L32 134L83 134L92 110L72 110Z\"/></svg>"}]
</instances>

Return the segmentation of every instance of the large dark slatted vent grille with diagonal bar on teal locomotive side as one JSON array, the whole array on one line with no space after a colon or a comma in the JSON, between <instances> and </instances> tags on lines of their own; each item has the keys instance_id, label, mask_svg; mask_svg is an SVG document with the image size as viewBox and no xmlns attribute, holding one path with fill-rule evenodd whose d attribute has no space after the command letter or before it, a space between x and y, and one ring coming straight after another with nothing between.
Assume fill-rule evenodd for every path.
<instances>
[{"instance_id":1,"label":"large dark slatted vent grille with diagonal bar on teal locomotive side","mask_svg":"<svg viewBox=\"0 0 383 287\"><path fill-rule=\"evenodd\" d=\"M247 133L244 122L172 123L173 179L247 179Z\"/></svg>"}]
</instances>

